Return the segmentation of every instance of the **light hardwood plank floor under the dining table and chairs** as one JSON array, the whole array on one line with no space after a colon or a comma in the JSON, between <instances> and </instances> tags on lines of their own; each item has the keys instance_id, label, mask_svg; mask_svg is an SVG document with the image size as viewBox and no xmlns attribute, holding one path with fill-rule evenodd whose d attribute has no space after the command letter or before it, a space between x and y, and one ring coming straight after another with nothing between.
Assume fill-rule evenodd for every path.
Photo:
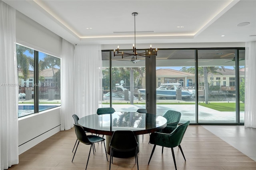
<instances>
[{"instance_id":1,"label":"light hardwood plank floor under the dining table and chairs","mask_svg":"<svg viewBox=\"0 0 256 170\"><path fill-rule=\"evenodd\" d=\"M156 146L150 164L148 160L153 148L148 144L149 135L140 136L138 154L140 170L175 170L170 148ZM60 131L30 150L20 154L19 164L9 170L84 170L90 146L80 143L73 163L72 149L76 141L74 128ZM103 144L96 144L96 153L91 153L88 170L108 170ZM189 125L181 143L186 157L184 161L178 147L174 148L178 170L256 170L256 162L212 134L200 125ZM109 158L109 155L108 155ZM136 170L134 157L114 158L112 170Z\"/></svg>"}]
</instances>

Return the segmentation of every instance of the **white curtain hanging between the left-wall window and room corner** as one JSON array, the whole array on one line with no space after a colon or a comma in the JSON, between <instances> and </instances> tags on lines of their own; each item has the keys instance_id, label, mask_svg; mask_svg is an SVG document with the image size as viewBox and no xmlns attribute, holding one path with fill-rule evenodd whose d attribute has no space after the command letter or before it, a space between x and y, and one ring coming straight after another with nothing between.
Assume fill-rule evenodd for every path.
<instances>
[{"instance_id":1,"label":"white curtain hanging between the left-wall window and room corner","mask_svg":"<svg viewBox=\"0 0 256 170\"><path fill-rule=\"evenodd\" d=\"M61 109L60 109L60 130L68 130L74 125L74 103L73 103L73 81L74 81L74 47L62 39L62 68L61 68Z\"/></svg>"}]
</instances>

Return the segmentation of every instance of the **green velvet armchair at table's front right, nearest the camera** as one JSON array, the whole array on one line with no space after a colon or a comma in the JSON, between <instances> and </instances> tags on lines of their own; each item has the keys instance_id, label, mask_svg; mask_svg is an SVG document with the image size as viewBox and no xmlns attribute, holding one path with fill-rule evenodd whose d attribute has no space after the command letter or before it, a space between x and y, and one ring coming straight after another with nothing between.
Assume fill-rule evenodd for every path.
<instances>
[{"instance_id":1,"label":"green velvet armchair at table's front right, nearest the camera","mask_svg":"<svg viewBox=\"0 0 256 170\"><path fill-rule=\"evenodd\" d=\"M156 148L156 145L158 146L164 146L171 148L172 150L172 158L174 161L175 169L177 170L175 156L174 156L174 150L173 148L178 146L180 148L180 151L182 153L182 156L184 160L186 161L186 158L184 156L183 150L180 146L180 143L182 142L183 136L186 132L186 129L189 125L190 121L186 121L186 123L183 123L176 127L170 134L169 133L162 133L162 132L153 132L150 134L150 143L154 144L150 158L148 160L148 164L150 163L150 160L153 156L154 150Z\"/></svg>"}]
</instances>

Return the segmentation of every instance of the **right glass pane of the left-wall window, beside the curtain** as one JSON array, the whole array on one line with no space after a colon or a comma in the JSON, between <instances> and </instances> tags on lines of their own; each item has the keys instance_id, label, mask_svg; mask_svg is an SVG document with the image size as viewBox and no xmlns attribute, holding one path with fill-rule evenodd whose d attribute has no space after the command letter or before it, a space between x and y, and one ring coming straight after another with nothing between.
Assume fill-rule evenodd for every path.
<instances>
[{"instance_id":1,"label":"right glass pane of the left-wall window, beside the curtain","mask_svg":"<svg viewBox=\"0 0 256 170\"><path fill-rule=\"evenodd\" d=\"M60 106L60 59L38 53L39 111Z\"/></svg>"}]
</instances>

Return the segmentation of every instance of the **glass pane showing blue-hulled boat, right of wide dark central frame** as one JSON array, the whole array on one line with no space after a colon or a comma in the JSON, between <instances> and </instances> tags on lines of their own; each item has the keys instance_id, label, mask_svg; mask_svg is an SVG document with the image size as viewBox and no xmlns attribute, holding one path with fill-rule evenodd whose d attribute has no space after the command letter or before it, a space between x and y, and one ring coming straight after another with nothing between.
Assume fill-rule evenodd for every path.
<instances>
[{"instance_id":1,"label":"glass pane showing blue-hulled boat, right of wide dark central frame","mask_svg":"<svg viewBox=\"0 0 256 170\"><path fill-rule=\"evenodd\" d=\"M180 123L195 118L195 51L159 50L156 56L156 114L179 111Z\"/></svg>"}]
</instances>

